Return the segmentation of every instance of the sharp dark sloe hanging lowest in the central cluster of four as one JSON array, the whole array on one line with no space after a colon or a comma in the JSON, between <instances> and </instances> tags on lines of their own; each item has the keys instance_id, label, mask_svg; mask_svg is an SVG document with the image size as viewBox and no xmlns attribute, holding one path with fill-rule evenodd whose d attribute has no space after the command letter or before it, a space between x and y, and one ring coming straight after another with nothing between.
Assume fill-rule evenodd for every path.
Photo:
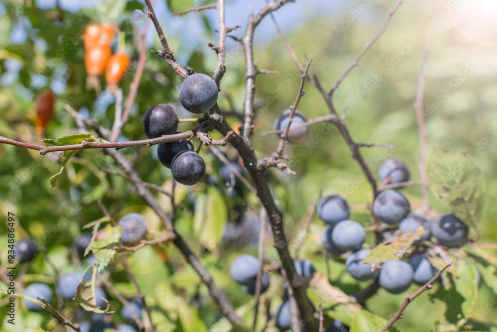
<instances>
[{"instance_id":1,"label":"sharp dark sloe hanging lowest in the central cluster of four","mask_svg":"<svg viewBox=\"0 0 497 332\"><path fill-rule=\"evenodd\" d=\"M179 152L172 159L171 173L177 182L192 186L202 180L205 174L204 159L193 151Z\"/></svg>"}]
</instances>

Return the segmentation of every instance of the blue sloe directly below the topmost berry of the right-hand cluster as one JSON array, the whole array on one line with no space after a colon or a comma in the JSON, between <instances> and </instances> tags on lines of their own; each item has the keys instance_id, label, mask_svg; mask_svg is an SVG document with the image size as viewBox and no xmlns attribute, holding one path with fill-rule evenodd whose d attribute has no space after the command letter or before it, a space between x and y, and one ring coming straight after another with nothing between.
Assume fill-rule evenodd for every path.
<instances>
[{"instance_id":1,"label":"blue sloe directly below the topmost berry of the right-hand cluster","mask_svg":"<svg viewBox=\"0 0 497 332\"><path fill-rule=\"evenodd\" d=\"M376 197L373 204L373 211L381 221L395 225L403 221L411 205L403 193L397 190L386 190Z\"/></svg>"}]
</instances>

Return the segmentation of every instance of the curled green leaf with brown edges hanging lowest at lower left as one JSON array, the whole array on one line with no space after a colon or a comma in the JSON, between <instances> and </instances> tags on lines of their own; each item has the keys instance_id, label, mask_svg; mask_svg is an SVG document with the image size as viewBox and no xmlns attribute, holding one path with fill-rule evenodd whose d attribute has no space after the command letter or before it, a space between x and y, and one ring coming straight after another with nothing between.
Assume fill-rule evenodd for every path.
<instances>
[{"instance_id":1,"label":"curled green leaf with brown edges hanging lowest at lower left","mask_svg":"<svg viewBox=\"0 0 497 332\"><path fill-rule=\"evenodd\" d=\"M96 272L97 272L97 263L93 266L88 266L84 271L83 278L76 288L76 296L74 300L78 302L84 310L92 311L97 314L112 314L113 311L109 310L109 302L106 299L103 299L107 303L107 308L105 310L101 310L96 304L96 296L95 296L95 280L96 280Z\"/></svg>"}]
</instances>

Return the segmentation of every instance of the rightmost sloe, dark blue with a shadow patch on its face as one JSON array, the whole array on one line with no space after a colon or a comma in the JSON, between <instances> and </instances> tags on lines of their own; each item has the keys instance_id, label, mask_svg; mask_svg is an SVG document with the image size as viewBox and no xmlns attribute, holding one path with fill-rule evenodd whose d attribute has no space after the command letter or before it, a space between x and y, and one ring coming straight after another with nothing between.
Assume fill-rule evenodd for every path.
<instances>
[{"instance_id":1,"label":"rightmost sloe, dark blue with a shadow patch on its face","mask_svg":"<svg viewBox=\"0 0 497 332\"><path fill-rule=\"evenodd\" d=\"M468 226L451 213L439 215L431 224L431 232L443 246L457 247L468 239Z\"/></svg>"}]
</instances>

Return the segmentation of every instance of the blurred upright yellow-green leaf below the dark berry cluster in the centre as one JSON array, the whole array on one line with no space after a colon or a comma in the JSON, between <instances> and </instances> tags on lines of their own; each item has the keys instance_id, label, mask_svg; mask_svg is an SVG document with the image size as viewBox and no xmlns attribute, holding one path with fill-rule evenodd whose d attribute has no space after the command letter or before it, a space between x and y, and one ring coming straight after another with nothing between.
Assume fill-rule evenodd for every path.
<instances>
[{"instance_id":1,"label":"blurred upright yellow-green leaf below the dark berry cluster in the centre","mask_svg":"<svg viewBox=\"0 0 497 332\"><path fill-rule=\"evenodd\" d=\"M215 187L209 187L206 195L200 195L195 206L193 231L200 243L212 250L222 239L228 219L223 196Z\"/></svg>"}]
</instances>

